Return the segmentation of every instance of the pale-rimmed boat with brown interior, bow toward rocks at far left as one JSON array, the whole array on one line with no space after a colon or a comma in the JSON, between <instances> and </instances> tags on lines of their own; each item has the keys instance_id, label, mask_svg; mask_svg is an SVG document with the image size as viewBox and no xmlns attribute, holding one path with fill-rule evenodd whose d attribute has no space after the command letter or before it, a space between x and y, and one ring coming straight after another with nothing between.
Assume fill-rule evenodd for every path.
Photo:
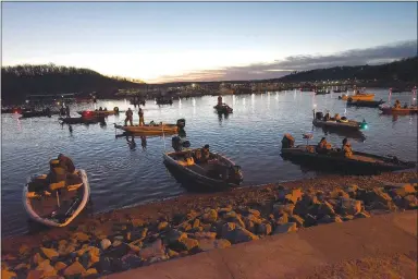
<instances>
[{"instance_id":1,"label":"pale-rimmed boat with brown interior, bow toward rocks at far left","mask_svg":"<svg viewBox=\"0 0 418 279\"><path fill-rule=\"evenodd\" d=\"M29 218L49 227L65 227L86 207L90 197L87 173L75 171L76 184L46 185L46 174L33 175L23 187L23 205Z\"/></svg>"}]
</instances>

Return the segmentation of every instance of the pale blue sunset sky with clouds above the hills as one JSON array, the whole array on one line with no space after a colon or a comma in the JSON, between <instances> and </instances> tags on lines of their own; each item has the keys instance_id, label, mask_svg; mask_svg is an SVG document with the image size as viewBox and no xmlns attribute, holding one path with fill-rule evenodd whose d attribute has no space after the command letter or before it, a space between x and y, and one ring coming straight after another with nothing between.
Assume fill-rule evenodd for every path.
<instances>
[{"instance_id":1,"label":"pale blue sunset sky with clouds above the hills","mask_svg":"<svg viewBox=\"0 0 418 279\"><path fill-rule=\"evenodd\" d=\"M150 83L270 78L417 54L416 2L3 2L2 65Z\"/></svg>"}]
</instances>

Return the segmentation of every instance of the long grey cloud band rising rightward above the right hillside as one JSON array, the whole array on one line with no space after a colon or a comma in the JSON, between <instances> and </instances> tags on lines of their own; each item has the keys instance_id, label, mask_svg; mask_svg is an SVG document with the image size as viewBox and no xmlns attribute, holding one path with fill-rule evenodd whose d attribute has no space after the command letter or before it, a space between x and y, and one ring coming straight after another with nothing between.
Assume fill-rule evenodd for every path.
<instances>
[{"instance_id":1,"label":"long grey cloud band rising rightward above the right hillside","mask_svg":"<svg viewBox=\"0 0 418 279\"><path fill-rule=\"evenodd\" d=\"M320 68L342 65L380 64L417 56L417 40L406 40L395 44L366 49L353 49L333 54L292 56L271 63L254 63L244 66L225 66L219 70L208 70L184 73L183 75L164 75L156 82L204 82L204 81L238 81L275 78L293 71L305 71Z\"/></svg>"}]
</instances>

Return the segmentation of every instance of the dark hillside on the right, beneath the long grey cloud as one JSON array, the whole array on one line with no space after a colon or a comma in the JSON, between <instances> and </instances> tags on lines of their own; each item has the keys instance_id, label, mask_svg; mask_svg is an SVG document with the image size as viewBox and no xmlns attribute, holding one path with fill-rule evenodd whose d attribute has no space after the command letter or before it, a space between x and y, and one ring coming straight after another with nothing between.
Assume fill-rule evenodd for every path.
<instances>
[{"instance_id":1,"label":"dark hillside on the right, beneath the long grey cloud","mask_svg":"<svg viewBox=\"0 0 418 279\"><path fill-rule=\"evenodd\" d=\"M317 69L285 75L280 78L269 80L282 83L315 82L327 80L362 80L378 82L418 82L418 57L403 59L380 65L334 66Z\"/></svg>"}]
</instances>

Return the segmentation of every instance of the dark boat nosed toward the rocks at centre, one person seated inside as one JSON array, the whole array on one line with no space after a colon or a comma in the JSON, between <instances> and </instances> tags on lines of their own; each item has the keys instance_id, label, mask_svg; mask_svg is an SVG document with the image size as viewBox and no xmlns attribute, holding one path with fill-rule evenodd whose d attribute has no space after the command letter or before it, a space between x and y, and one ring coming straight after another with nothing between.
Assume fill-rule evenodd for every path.
<instances>
[{"instance_id":1,"label":"dark boat nosed toward the rocks at centre, one person seated inside","mask_svg":"<svg viewBox=\"0 0 418 279\"><path fill-rule=\"evenodd\" d=\"M165 153L163 162L173 177L193 191L222 191L243 181L241 167L219 154L210 153L207 162L195 160L199 148ZM222 178L223 177L223 178Z\"/></svg>"}]
</instances>

